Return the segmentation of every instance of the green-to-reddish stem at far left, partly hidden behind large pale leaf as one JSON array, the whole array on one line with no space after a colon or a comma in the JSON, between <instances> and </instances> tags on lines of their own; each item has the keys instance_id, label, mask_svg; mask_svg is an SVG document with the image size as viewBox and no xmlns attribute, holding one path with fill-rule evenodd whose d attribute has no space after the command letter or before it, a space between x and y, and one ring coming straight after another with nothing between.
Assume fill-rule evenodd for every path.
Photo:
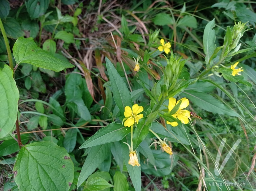
<instances>
[{"instance_id":1,"label":"green-to-reddish stem at far left, partly hidden behind large pale leaf","mask_svg":"<svg viewBox=\"0 0 256 191\"><path fill-rule=\"evenodd\" d=\"M2 23L1 18L0 18L0 29L1 29L1 32L2 32L3 37L4 37L4 43L5 43L7 54L8 54L9 65L10 65L10 68L12 69L12 71L14 72L13 62L12 62L12 53L11 53L10 45L9 45L8 38L7 38L7 35L5 33L4 25ZM13 78L14 78L14 74L13 74ZM19 127L18 116L17 116L17 120L16 120L15 124L16 124L17 136L18 136L18 144L19 144L19 147L21 149L22 143L21 143L21 139L20 139L20 127Z\"/></svg>"}]
</instances>

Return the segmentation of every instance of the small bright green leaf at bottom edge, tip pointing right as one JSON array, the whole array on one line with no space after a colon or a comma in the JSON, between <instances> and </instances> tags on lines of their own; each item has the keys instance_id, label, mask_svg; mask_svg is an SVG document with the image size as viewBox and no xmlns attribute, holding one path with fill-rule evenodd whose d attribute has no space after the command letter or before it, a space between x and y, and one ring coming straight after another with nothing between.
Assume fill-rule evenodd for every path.
<instances>
[{"instance_id":1,"label":"small bright green leaf at bottom edge, tip pointing right","mask_svg":"<svg viewBox=\"0 0 256 191\"><path fill-rule=\"evenodd\" d=\"M105 179L101 177L94 177L86 181L86 188L92 191L103 190L105 188L113 187L112 184L109 184Z\"/></svg>"}]
</instances>

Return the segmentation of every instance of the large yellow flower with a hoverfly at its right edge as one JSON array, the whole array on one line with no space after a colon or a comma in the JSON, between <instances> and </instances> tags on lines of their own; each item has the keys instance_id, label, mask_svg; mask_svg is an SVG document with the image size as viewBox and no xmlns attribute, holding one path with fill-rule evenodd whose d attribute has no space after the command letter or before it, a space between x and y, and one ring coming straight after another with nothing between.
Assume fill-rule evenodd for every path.
<instances>
[{"instance_id":1,"label":"large yellow flower with a hoverfly at its right edge","mask_svg":"<svg viewBox=\"0 0 256 191\"><path fill-rule=\"evenodd\" d=\"M178 102L176 103L176 99L171 97L169 98L169 105L168 105L168 110L172 111L172 109L174 108L175 105L177 105L179 102L181 101L180 107L178 109L178 111L176 111L176 113L174 113L172 115L172 117L174 118L178 118L181 123L183 124L188 124L188 118L190 117L190 111L188 110L183 110L184 108L188 107L189 101L187 98L182 98L180 100L178 100ZM177 126L178 123L177 122L169 122L167 121L167 124L170 124L171 126Z\"/></svg>"}]
</instances>

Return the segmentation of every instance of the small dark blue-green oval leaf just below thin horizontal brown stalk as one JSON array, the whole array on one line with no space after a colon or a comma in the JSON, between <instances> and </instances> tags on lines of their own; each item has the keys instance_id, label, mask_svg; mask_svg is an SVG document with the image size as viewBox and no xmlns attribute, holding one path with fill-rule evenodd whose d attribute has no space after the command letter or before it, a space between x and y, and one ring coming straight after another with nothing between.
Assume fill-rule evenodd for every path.
<instances>
[{"instance_id":1,"label":"small dark blue-green oval leaf just below thin horizontal brown stalk","mask_svg":"<svg viewBox=\"0 0 256 191\"><path fill-rule=\"evenodd\" d=\"M71 153L75 149L76 135L77 135L76 129L69 129L66 133L66 137L63 141L63 145L64 145L64 148L68 151L68 153Z\"/></svg>"}]
</instances>

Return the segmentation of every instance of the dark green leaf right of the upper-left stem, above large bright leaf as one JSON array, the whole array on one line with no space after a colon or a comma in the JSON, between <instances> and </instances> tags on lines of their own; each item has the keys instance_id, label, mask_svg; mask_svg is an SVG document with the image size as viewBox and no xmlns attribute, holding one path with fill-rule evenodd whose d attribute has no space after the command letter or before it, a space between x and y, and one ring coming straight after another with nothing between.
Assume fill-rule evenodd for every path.
<instances>
[{"instance_id":1,"label":"dark green leaf right of the upper-left stem, above large bright leaf","mask_svg":"<svg viewBox=\"0 0 256 191\"><path fill-rule=\"evenodd\" d=\"M3 22L4 29L7 37L17 39L20 36L24 36L25 33L21 29L20 23L13 18L7 18Z\"/></svg>"}]
</instances>

